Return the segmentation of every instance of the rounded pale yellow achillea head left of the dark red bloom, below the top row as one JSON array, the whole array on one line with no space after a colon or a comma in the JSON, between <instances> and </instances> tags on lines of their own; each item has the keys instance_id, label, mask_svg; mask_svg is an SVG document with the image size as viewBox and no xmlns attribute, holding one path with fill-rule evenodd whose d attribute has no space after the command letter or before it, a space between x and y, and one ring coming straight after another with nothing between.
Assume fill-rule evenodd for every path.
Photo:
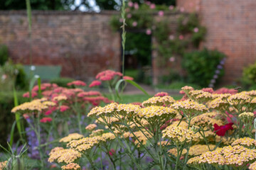
<instances>
[{"instance_id":1,"label":"rounded pale yellow achillea head left of the dark red bloom, below the top row","mask_svg":"<svg viewBox=\"0 0 256 170\"><path fill-rule=\"evenodd\" d=\"M183 129L181 127L169 126L162 131L163 137L169 138L176 143L189 142L193 139L194 134L191 130Z\"/></svg>"}]
</instances>

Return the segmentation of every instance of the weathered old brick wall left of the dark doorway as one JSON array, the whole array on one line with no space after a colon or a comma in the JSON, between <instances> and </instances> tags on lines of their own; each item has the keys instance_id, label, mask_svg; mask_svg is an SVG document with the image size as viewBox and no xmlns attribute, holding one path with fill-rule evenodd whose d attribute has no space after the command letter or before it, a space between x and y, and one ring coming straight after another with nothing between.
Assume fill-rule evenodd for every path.
<instances>
[{"instance_id":1,"label":"weathered old brick wall left of the dark doorway","mask_svg":"<svg viewBox=\"0 0 256 170\"><path fill-rule=\"evenodd\" d=\"M62 66L61 75L92 78L104 69L120 69L119 33L109 26L112 13L33 11L33 64ZM15 62L29 64L26 11L0 11L0 44Z\"/></svg>"}]
</instances>

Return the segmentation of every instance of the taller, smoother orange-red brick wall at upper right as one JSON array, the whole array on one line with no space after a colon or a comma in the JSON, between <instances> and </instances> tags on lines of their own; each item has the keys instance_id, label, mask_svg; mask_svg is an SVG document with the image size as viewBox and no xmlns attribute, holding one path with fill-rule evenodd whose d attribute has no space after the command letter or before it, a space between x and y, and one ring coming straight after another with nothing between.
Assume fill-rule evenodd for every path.
<instances>
[{"instance_id":1,"label":"taller, smoother orange-red brick wall at upper right","mask_svg":"<svg viewBox=\"0 0 256 170\"><path fill-rule=\"evenodd\" d=\"M178 0L179 8L188 11L190 0ZM223 83L242 76L242 69L256 62L256 1L201 0L202 24L208 33L202 46L218 49L228 56Z\"/></svg>"}]
</instances>

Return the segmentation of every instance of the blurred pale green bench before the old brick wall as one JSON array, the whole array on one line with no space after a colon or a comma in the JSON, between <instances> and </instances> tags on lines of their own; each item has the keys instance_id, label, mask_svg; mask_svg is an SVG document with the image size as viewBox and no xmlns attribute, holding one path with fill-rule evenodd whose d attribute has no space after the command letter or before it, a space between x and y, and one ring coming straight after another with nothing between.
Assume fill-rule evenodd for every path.
<instances>
[{"instance_id":1,"label":"blurred pale green bench before the old brick wall","mask_svg":"<svg viewBox=\"0 0 256 170\"><path fill-rule=\"evenodd\" d=\"M61 66L57 65L23 65L27 77L38 75L42 80L51 80L60 77Z\"/></svg>"}]
</instances>

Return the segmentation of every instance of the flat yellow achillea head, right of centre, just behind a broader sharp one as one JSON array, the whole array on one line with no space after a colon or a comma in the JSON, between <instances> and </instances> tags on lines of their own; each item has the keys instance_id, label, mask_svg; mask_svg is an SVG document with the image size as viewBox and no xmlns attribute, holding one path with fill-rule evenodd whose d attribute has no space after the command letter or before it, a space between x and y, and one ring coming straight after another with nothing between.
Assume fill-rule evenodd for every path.
<instances>
[{"instance_id":1,"label":"flat yellow achillea head, right of centre, just behind a broader sharp one","mask_svg":"<svg viewBox=\"0 0 256 170\"><path fill-rule=\"evenodd\" d=\"M151 97L148 100L144 101L142 103L142 106L147 107L147 106L169 106L170 104L174 103L175 100L171 96L156 96L156 97Z\"/></svg>"}]
</instances>

